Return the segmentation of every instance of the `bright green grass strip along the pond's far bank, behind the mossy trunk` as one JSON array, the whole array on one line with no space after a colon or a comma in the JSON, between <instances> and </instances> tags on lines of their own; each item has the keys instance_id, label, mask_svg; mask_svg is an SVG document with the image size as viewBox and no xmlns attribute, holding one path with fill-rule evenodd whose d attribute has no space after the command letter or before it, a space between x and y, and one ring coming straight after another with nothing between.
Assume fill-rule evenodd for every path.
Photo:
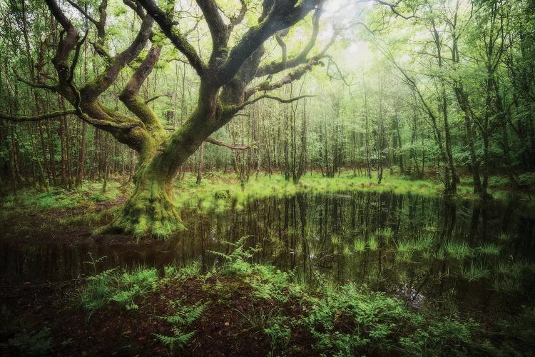
<instances>
[{"instance_id":1,"label":"bright green grass strip along the pond's far bank, behind the mossy trunk","mask_svg":"<svg viewBox=\"0 0 535 357\"><path fill-rule=\"evenodd\" d=\"M524 177L525 176L525 177ZM524 175L524 181L530 181L531 174ZM393 192L397 194L417 194L421 196L439 196L444 188L439 181L411 180L404 176L389 175L386 172L380 185L375 178L365 176L353 176L345 171L334 178L325 178L321 174L312 173L302 176L299 183L285 181L284 176L275 174L266 176L263 174L252 176L249 181L242 183L233 174L220 172L205 175L200 185L195 183L194 174L186 174L181 181L176 181L175 206L178 210L195 209L200 212L223 213L230 208L243 210L248 201L257 198L294 196L296 193L338 193L338 192ZM91 207L96 203L111 202L122 194L128 195L133 186L121 188L118 181L108 181L106 193L102 192L102 183L84 182L81 188L73 191L64 188L51 188L49 192L43 192L34 188L26 188L19 191L18 196L6 196L1 206L4 208L24 209L65 209L75 207ZM120 189L121 188L121 189ZM496 198L511 199L506 191L490 190ZM472 186L466 179L462 179L459 185L457 197L461 199L477 199L474 196ZM526 199L523 198L524 201ZM529 202L529 201L528 201ZM4 214L9 214L4 211ZM388 229L388 228L387 228ZM389 232L387 237L390 238Z\"/></svg>"}]
</instances>

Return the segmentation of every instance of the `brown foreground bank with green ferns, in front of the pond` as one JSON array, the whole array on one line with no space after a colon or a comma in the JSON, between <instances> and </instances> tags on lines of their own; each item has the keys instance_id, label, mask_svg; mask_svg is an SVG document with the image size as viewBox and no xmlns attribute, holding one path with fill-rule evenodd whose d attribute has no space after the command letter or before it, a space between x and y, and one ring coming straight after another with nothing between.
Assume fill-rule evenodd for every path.
<instances>
[{"instance_id":1,"label":"brown foreground bank with green ferns, in front of the pond","mask_svg":"<svg viewBox=\"0 0 535 357\"><path fill-rule=\"evenodd\" d=\"M75 281L0 289L0 352L61 356L530 355L535 310L481 321L413 309L365 287L304 286L232 256L199 264L105 271ZM8 306L8 307L6 307ZM442 311L442 312L437 312Z\"/></svg>"}]
</instances>

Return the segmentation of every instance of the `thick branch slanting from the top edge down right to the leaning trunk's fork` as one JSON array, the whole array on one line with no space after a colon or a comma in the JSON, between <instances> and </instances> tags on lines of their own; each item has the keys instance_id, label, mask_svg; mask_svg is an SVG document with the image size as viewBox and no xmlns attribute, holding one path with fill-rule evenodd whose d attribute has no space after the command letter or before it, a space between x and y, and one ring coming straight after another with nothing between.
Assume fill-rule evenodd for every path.
<instances>
[{"instance_id":1,"label":"thick branch slanting from the top edge down right to the leaning trunk's fork","mask_svg":"<svg viewBox=\"0 0 535 357\"><path fill-rule=\"evenodd\" d=\"M156 5L154 0L138 0L141 5L146 9L148 14L150 14L153 19L156 20L158 25L163 31L163 34L170 39L173 45L182 52L184 56L188 59L190 65L197 71L199 76L203 76L205 71L205 64L203 60L200 59L199 55L195 51L195 48L185 39L185 36L180 34L180 31L174 29L173 20L167 16L159 7Z\"/></svg>"}]
</instances>

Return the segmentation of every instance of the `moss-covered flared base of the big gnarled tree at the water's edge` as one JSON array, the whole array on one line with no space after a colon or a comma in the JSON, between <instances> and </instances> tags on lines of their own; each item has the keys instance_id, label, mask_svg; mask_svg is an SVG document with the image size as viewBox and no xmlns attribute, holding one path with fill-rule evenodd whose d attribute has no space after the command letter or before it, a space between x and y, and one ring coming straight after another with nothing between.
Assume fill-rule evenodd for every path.
<instances>
[{"instance_id":1,"label":"moss-covered flared base of the big gnarled tree at the water's edge","mask_svg":"<svg viewBox=\"0 0 535 357\"><path fill-rule=\"evenodd\" d=\"M165 189L139 185L116 218L98 233L121 232L135 238L153 236L166 238L184 229L180 216Z\"/></svg>"}]
</instances>

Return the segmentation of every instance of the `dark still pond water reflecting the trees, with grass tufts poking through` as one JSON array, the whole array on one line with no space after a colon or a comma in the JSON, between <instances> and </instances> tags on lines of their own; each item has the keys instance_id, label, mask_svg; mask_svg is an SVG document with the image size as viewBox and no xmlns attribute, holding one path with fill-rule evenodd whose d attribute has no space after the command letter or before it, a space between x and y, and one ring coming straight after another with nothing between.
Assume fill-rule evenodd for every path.
<instances>
[{"instance_id":1,"label":"dark still pond water reflecting the trees, with grass tufts poking through","mask_svg":"<svg viewBox=\"0 0 535 357\"><path fill-rule=\"evenodd\" d=\"M512 202L448 203L394 193L301 194L251 201L243 211L185 213L188 231L139 245L25 243L1 234L0 276L66 281L116 266L211 268L209 251L248 238L255 260L292 271L299 281L366 283L419 306L448 296L464 306L507 308L528 302L535 286L535 219Z\"/></svg>"}]
</instances>

